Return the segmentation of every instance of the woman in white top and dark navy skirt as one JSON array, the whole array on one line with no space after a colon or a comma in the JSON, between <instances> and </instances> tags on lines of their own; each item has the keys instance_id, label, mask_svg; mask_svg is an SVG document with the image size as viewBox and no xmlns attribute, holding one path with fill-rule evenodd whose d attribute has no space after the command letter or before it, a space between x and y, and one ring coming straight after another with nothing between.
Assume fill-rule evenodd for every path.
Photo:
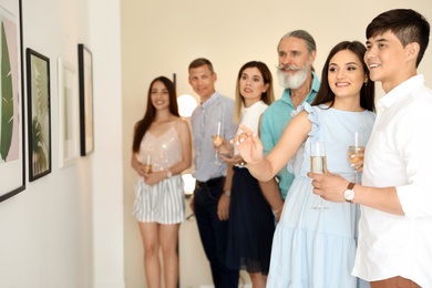
<instances>
[{"instance_id":1,"label":"woman in white top and dark navy skirt","mask_svg":"<svg viewBox=\"0 0 432 288\"><path fill-rule=\"evenodd\" d=\"M237 76L234 122L258 134L260 116L275 100L268 66L259 61L244 64ZM239 133L239 132L238 132ZM246 270L254 288L265 288L270 265L275 217L259 183L237 151L222 158L233 175L227 241L227 266ZM227 177L229 179L230 177Z\"/></svg>"}]
</instances>

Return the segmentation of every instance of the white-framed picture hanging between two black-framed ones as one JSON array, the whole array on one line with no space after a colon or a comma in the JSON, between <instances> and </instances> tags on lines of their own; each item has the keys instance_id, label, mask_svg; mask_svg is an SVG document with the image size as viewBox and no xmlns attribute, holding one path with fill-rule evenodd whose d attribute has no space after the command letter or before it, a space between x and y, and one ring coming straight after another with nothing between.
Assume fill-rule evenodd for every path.
<instances>
[{"instance_id":1,"label":"white-framed picture hanging between two black-framed ones","mask_svg":"<svg viewBox=\"0 0 432 288\"><path fill-rule=\"evenodd\" d=\"M73 164L78 158L78 81L71 64L58 58L59 79L59 158L60 167Z\"/></svg>"}]
</instances>

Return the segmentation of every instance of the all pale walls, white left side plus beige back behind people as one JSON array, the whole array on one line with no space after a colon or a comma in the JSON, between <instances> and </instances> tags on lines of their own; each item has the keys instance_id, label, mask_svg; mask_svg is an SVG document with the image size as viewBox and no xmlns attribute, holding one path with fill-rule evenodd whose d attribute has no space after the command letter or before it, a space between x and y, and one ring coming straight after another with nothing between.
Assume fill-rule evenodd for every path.
<instances>
[{"instance_id":1,"label":"all pale walls, white left side plus beige back behind people","mask_svg":"<svg viewBox=\"0 0 432 288\"><path fill-rule=\"evenodd\" d=\"M13 0L0 4L6 1ZM155 76L175 73L178 93L196 96L187 65L206 56L217 89L233 96L245 62L260 60L275 71L276 45L287 31L306 29L316 38L320 72L329 49L346 39L364 41L364 27L379 12L413 8L432 20L430 0L22 0L22 8L23 49L50 59L52 172L29 182L25 163L25 191L0 203L6 288L145 287L130 157L133 125ZM56 58L78 69L78 43L93 53L95 150L60 168ZM432 86L431 48L420 72ZM182 288L210 284L195 225L181 228Z\"/></svg>"}]
</instances>

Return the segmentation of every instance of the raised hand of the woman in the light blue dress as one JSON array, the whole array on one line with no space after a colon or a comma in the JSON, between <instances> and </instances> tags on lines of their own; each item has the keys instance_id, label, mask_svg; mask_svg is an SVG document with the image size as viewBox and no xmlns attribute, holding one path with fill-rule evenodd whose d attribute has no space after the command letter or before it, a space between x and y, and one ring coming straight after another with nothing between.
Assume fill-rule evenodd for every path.
<instances>
[{"instance_id":1,"label":"raised hand of the woman in the light blue dress","mask_svg":"<svg viewBox=\"0 0 432 288\"><path fill-rule=\"evenodd\" d=\"M232 143L237 146L241 158L249 165L263 160L263 143L259 137L248 127L240 124L243 133L236 135Z\"/></svg>"}]
</instances>

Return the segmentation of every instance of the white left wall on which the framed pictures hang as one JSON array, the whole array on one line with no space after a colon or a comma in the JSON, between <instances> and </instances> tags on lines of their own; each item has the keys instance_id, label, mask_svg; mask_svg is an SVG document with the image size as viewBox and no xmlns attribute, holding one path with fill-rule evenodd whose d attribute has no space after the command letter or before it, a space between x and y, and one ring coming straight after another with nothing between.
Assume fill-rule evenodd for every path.
<instances>
[{"instance_id":1,"label":"white left wall on which the framed pictures hang","mask_svg":"<svg viewBox=\"0 0 432 288\"><path fill-rule=\"evenodd\" d=\"M22 49L50 59L52 172L28 181L25 143L25 191L0 203L0 287L124 288L120 1L22 0ZM95 145L60 168L58 58L78 71L78 43L93 53Z\"/></svg>"}]
</instances>

